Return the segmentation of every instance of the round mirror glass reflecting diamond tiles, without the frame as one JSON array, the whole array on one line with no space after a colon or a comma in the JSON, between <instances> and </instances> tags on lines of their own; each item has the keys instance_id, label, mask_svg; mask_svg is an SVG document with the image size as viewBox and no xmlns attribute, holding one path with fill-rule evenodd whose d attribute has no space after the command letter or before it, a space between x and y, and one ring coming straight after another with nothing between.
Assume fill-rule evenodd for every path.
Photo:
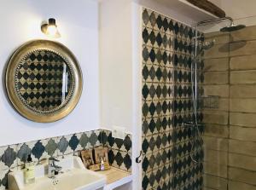
<instances>
[{"instance_id":1,"label":"round mirror glass reflecting diamond tiles, without the frame","mask_svg":"<svg viewBox=\"0 0 256 190\"><path fill-rule=\"evenodd\" d=\"M67 100L72 78L67 62L49 50L26 55L16 69L16 91L26 107L52 111Z\"/></svg>"}]
</instances>

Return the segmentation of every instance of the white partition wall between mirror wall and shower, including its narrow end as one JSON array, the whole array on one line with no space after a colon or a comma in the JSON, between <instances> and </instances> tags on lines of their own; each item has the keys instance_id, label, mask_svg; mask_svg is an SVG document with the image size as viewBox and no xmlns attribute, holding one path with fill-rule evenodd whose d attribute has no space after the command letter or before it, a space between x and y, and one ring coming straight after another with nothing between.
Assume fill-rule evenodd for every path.
<instances>
[{"instance_id":1,"label":"white partition wall between mirror wall and shower, including its narrow end","mask_svg":"<svg viewBox=\"0 0 256 190\"><path fill-rule=\"evenodd\" d=\"M141 165L135 163L142 144L141 22L140 6L131 0L103 0L100 4L102 127L119 125L132 133L134 189L142 183Z\"/></svg>"}]
</instances>

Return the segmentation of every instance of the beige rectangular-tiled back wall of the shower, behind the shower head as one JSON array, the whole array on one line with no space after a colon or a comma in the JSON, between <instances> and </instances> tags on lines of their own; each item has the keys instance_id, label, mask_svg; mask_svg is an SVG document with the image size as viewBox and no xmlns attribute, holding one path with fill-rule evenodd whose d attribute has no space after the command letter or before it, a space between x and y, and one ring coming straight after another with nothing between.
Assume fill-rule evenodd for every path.
<instances>
[{"instance_id":1,"label":"beige rectangular-tiled back wall of the shower, behind the shower head","mask_svg":"<svg viewBox=\"0 0 256 190\"><path fill-rule=\"evenodd\" d=\"M198 27L205 42L215 41L203 55L204 189L255 189L255 20Z\"/></svg>"}]
</instances>

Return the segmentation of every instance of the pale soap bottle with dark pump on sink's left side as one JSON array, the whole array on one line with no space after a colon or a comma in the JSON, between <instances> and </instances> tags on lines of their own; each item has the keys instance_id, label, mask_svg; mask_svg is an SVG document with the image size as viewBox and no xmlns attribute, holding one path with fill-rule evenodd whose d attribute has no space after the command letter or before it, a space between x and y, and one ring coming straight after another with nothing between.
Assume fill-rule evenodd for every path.
<instances>
[{"instance_id":1,"label":"pale soap bottle with dark pump on sink's left side","mask_svg":"<svg viewBox=\"0 0 256 190\"><path fill-rule=\"evenodd\" d=\"M32 162L31 155L29 154L25 164L25 182L26 184L33 183L35 181L35 164Z\"/></svg>"}]
</instances>

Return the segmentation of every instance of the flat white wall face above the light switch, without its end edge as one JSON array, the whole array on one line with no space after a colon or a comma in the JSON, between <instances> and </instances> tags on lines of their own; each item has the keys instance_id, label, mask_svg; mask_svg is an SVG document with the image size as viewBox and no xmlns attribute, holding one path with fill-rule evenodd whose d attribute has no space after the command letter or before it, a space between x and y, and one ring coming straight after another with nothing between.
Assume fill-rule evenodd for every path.
<instances>
[{"instance_id":1,"label":"flat white wall face above the light switch, without its end edge","mask_svg":"<svg viewBox=\"0 0 256 190\"><path fill-rule=\"evenodd\" d=\"M102 127L132 125L131 1L100 3Z\"/></svg>"}]
</instances>

